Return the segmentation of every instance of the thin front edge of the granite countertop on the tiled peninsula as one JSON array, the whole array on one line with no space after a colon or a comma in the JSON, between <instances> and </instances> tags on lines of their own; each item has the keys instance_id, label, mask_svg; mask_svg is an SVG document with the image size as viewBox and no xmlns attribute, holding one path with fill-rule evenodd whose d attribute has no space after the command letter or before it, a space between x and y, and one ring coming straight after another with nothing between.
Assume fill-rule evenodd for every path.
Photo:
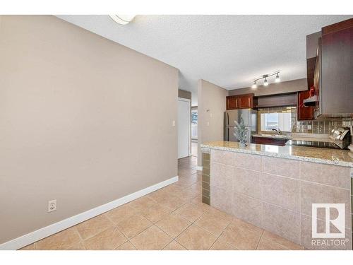
<instances>
[{"instance_id":1,"label":"thin front edge of the granite countertop on the tiled peninsula","mask_svg":"<svg viewBox=\"0 0 353 265\"><path fill-rule=\"evenodd\" d=\"M213 146L208 144L201 144L201 151L203 151L203 148L229 151L234 153L249 153L253 155L265 155L265 156L270 156L274 158L286 158L286 159L300 160L300 161L327 164L327 165L339 165L342 167L353 167L353 162L326 160L321 158L311 158L307 156L289 155L287 153L271 153L271 152L265 152L265 151L249 150L244 148L232 148L232 147L225 147L225 146ZM206 153L209 153L209 152L206 152Z\"/></svg>"}]
</instances>

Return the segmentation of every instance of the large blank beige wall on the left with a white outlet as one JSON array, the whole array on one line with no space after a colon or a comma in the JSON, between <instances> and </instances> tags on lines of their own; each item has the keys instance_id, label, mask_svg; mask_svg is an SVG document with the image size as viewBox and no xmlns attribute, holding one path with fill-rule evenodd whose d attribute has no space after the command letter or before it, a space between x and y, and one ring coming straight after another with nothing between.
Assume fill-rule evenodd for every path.
<instances>
[{"instance_id":1,"label":"large blank beige wall on the left with a white outlet","mask_svg":"<svg viewBox=\"0 0 353 265\"><path fill-rule=\"evenodd\" d=\"M177 175L174 67L54 16L3 16L0 58L0 243Z\"/></svg>"}]
</instances>

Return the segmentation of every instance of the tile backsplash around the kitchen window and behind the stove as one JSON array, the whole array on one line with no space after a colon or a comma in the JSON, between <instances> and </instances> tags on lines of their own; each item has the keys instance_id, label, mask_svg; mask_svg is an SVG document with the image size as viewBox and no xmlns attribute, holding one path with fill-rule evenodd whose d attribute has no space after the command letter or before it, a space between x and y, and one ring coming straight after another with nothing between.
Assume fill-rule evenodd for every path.
<instances>
[{"instance_id":1,"label":"tile backsplash around the kitchen window and behind the stove","mask_svg":"<svg viewBox=\"0 0 353 265\"><path fill-rule=\"evenodd\" d=\"M352 118L330 118L321 121L298 121L297 107L265 107L258 109L258 128L261 128L261 113L291 112L292 133L304 134L330 134L332 129L338 126L353 126Z\"/></svg>"}]
</instances>

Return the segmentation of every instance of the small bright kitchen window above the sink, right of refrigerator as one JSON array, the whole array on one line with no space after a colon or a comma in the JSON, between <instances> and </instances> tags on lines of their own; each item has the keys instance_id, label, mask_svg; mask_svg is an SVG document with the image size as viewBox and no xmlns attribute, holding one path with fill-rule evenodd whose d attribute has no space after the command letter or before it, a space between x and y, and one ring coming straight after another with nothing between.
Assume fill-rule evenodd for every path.
<instances>
[{"instance_id":1,"label":"small bright kitchen window above the sink, right of refrigerator","mask_svg":"<svg viewBox=\"0 0 353 265\"><path fill-rule=\"evenodd\" d=\"M261 131L292 131L291 112L261 113Z\"/></svg>"}]
</instances>

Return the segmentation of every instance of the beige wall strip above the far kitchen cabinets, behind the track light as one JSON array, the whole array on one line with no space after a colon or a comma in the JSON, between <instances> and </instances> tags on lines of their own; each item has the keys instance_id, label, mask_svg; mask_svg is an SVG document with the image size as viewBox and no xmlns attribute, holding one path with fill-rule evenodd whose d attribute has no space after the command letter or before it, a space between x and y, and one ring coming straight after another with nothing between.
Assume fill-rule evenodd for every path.
<instances>
[{"instance_id":1,"label":"beige wall strip above the far kitchen cabinets, behind the track light","mask_svg":"<svg viewBox=\"0 0 353 265\"><path fill-rule=\"evenodd\" d=\"M261 83L258 82L258 83ZM308 89L306 78L296 79L292 81L285 81L280 83L270 83L268 86L258 86L258 88L239 88L229 90L229 95L241 95L254 93L256 96L259 95L275 95L282 93L293 93Z\"/></svg>"}]
</instances>

